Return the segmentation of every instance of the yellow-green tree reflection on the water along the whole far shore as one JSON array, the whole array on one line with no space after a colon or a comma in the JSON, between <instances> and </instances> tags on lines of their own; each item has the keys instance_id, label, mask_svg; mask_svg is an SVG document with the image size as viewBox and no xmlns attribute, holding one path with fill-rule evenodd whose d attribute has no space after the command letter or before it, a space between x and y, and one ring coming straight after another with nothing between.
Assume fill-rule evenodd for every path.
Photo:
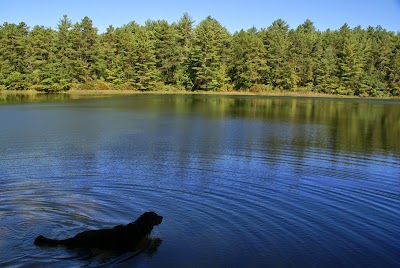
<instances>
[{"instance_id":1,"label":"yellow-green tree reflection on the water along the whole far shore","mask_svg":"<svg viewBox=\"0 0 400 268\"><path fill-rule=\"evenodd\" d=\"M96 96L72 94L0 94L0 104L64 102ZM110 95L97 97L110 98ZM226 95L114 96L103 105L116 110L137 109L164 114L194 114L212 118L241 118L286 123L305 128L290 140L297 146L380 153L400 152L400 102L398 100L261 97ZM109 107L111 106L111 107ZM313 126L324 126L324 131ZM312 137L310 136L310 132ZM315 133L315 131L317 133ZM285 135L285 133L282 133Z\"/></svg>"}]
</instances>

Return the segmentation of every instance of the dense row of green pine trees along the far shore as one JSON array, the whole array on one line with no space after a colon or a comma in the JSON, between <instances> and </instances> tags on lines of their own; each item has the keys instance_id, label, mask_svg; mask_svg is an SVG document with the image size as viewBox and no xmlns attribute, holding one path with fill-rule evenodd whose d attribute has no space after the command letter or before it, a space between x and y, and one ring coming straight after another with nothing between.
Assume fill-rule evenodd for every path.
<instances>
[{"instance_id":1,"label":"dense row of green pine trees along the far shore","mask_svg":"<svg viewBox=\"0 0 400 268\"><path fill-rule=\"evenodd\" d=\"M109 26L64 15L57 29L0 26L0 90L313 91L400 95L400 33L382 27L316 30L283 20L231 34L207 17Z\"/></svg>"}]
</instances>

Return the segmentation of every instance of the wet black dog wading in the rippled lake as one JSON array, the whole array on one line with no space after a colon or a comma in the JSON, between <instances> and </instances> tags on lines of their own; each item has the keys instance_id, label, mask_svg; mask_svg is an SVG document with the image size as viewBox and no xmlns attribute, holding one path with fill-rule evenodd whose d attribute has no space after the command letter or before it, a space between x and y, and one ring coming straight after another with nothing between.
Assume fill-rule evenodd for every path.
<instances>
[{"instance_id":1,"label":"wet black dog wading in the rippled lake","mask_svg":"<svg viewBox=\"0 0 400 268\"><path fill-rule=\"evenodd\" d=\"M70 249L134 250L135 246L150 234L153 227L162 222L162 219L163 217L155 212L145 212L135 222L127 225L118 225L111 229L85 231L67 239L56 240L39 235L35 239L35 245L48 247L61 245Z\"/></svg>"}]
</instances>

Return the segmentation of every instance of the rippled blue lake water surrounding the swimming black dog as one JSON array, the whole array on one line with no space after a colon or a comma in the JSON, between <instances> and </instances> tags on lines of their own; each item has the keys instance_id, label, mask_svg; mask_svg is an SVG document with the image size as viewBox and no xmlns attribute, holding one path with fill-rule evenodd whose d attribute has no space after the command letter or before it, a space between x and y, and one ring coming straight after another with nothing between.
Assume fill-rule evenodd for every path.
<instances>
[{"instance_id":1,"label":"rippled blue lake water surrounding the swimming black dog","mask_svg":"<svg viewBox=\"0 0 400 268\"><path fill-rule=\"evenodd\" d=\"M400 266L400 101L0 103L0 267ZM164 216L152 253L88 257L33 244L149 210Z\"/></svg>"}]
</instances>

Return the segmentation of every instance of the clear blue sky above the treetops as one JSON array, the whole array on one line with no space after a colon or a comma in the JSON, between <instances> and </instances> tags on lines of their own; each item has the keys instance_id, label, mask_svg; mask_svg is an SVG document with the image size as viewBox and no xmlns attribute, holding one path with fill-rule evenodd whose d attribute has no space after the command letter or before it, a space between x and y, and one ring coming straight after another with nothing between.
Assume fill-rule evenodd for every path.
<instances>
[{"instance_id":1,"label":"clear blue sky above the treetops","mask_svg":"<svg viewBox=\"0 0 400 268\"><path fill-rule=\"evenodd\" d=\"M1 1L0 23L25 22L56 29L63 14L75 23L84 16L103 32L147 19L176 22L184 12L199 23L211 15L230 32L266 28L276 19L296 28L306 19L317 29L339 29L344 23L363 28L381 25L400 32L400 0L16 0Z\"/></svg>"}]
</instances>

